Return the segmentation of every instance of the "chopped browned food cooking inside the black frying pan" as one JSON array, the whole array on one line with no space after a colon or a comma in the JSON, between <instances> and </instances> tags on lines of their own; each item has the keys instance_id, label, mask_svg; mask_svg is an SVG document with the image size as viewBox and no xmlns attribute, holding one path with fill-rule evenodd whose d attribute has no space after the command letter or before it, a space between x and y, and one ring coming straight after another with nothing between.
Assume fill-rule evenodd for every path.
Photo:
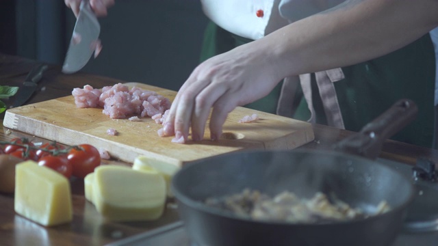
<instances>
[{"instance_id":1,"label":"chopped browned food cooking inside the black frying pan","mask_svg":"<svg viewBox=\"0 0 438 246\"><path fill-rule=\"evenodd\" d=\"M320 192L310 199L304 199L289 191L270 197L250 189L226 197L208 198L205 204L229 210L245 218L287 223L328 223L363 219L386 213L390 209L387 202L382 201L373 213L365 213L342 200L329 199Z\"/></svg>"}]
</instances>

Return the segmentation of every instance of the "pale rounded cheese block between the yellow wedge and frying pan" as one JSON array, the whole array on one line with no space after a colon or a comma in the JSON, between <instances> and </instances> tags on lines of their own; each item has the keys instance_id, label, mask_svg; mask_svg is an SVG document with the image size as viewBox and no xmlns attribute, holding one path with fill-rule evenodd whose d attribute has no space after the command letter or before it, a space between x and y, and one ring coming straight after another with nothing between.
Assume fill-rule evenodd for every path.
<instances>
[{"instance_id":1,"label":"pale rounded cheese block between the yellow wedge and frying pan","mask_svg":"<svg viewBox=\"0 0 438 246\"><path fill-rule=\"evenodd\" d=\"M92 200L96 210L111 221L158 219L166 202L166 182L157 172L103 165L94 169Z\"/></svg>"}]
</instances>

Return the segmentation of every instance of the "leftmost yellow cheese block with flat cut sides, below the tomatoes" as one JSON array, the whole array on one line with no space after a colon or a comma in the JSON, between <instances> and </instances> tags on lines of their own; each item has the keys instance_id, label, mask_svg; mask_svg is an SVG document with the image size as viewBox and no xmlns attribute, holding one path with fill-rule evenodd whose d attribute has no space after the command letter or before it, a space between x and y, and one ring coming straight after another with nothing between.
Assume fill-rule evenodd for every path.
<instances>
[{"instance_id":1,"label":"leftmost yellow cheese block with flat cut sides, below the tomatoes","mask_svg":"<svg viewBox=\"0 0 438 246\"><path fill-rule=\"evenodd\" d=\"M25 161L16 165L15 182L16 213L42 226L72 221L70 182L62 174Z\"/></svg>"}]
</instances>

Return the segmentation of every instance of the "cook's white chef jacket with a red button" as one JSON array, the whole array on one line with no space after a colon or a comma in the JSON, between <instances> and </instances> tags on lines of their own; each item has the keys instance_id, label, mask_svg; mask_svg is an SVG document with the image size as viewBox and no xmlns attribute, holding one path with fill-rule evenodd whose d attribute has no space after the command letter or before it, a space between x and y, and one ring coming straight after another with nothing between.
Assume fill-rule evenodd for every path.
<instances>
[{"instance_id":1,"label":"cook's white chef jacket with a red button","mask_svg":"<svg viewBox=\"0 0 438 246\"><path fill-rule=\"evenodd\" d=\"M342 2L344 0L201 0L205 15L216 25L252 40ZM438 27L430 31L430 37L435 45L435 105L438 105Z\"/></svg>"}]
</instances>

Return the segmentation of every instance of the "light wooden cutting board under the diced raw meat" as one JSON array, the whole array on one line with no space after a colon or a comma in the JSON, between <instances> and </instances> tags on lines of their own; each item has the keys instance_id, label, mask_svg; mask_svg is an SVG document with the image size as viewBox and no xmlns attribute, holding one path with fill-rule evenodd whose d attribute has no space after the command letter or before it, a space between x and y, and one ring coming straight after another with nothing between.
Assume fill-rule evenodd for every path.
<instances>
[{"instance_id":1,"label":"light wooden cutting board under the diced raw meat","mask_svg":"<svg viewBox=\"0 0 438 246\"><path fill-rule=\"evenodd\" d=\"M174 91L142 83L127 85L155 91L170 100L176 95ZM244 115L253 113L257 113L260 120L238 123ZM73 96L8 109L3 126L70 146L90 143L129 163L144 154L175 165L239 150L293 149L314 139L308 122L237 107L229 113L219 141L210 141L206 129L203 141L172 143L172 137L157 135L162 125L151 118L142 118L140 122L113 120L104 115L102 109L77 108ZM107 135L108 128L116 129L118 135Z\"/></svg>"}]
</instances>

